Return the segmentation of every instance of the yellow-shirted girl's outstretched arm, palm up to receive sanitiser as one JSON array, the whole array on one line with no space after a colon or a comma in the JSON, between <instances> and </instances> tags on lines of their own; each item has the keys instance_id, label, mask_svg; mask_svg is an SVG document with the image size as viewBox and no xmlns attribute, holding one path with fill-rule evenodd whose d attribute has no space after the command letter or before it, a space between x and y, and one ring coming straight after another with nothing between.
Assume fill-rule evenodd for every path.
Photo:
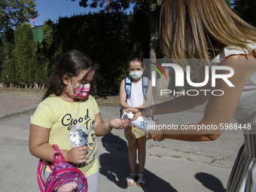
<instances>
[{"instance_id":1,"label":"yellow-shirted girl's outstretched arm, palm up to receive sanitiser","mask_svg":"<svg viewBox=\"0 0 256 192\"><path fill-rule=\"evenodd\" d=\"M105 136L110 133L113 128L121 130L125 128L129 120L121 120L120 118L115 118L103 122L102 115L100 113L96 114L95 117L95 134L96 136Z\"/></svg>"}]
</instances>

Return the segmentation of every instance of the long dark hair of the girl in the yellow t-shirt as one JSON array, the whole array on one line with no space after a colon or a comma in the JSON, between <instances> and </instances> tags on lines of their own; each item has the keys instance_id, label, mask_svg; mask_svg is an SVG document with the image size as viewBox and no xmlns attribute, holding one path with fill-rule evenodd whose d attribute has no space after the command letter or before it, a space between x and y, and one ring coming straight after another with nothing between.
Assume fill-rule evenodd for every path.
<instances>
[{"instance_id":1,"label":"long dark hair of the girl in the yellow t-shirt","mask_svg":"<svg viewBox=\"0 0 256 192\"><path fill-rule=\"evenodd\" d=\"M50 76L48 88L42 100L46 99L53 93L56 96L60 96L62 94L64 87L66 87L66 84L64 84L64 82L62 81L62 77L64 75L67 75L69 78L73 78L77 77L82 70L89 69L87 74L84 75L84 78L86 78L87 75L90 72L95 71L96 68L96 64L94 64L87 56L85 56L80 51L67 51L56 62L56 67L55 69L53 69L53 72Z\"/></svg>"}]
</instances>

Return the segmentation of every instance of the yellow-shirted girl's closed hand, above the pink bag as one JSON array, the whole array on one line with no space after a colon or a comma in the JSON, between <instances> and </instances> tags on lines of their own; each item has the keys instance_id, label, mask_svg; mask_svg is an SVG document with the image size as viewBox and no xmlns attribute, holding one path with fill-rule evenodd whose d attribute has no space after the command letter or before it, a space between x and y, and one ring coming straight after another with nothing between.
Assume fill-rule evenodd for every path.
<instances>
[{"instance_id":1,"label":"yellow-shirted girl's closed hand, above the pink bag","mask_svg":"<svg viewBox=\"0 0 256 192\"><path fill-rule=\"evenodd\" d=\"M87 146L78 146L72 148L67 153L67 162L70 163L85 163L87 160Z\"/></svg>"}]
</instances>

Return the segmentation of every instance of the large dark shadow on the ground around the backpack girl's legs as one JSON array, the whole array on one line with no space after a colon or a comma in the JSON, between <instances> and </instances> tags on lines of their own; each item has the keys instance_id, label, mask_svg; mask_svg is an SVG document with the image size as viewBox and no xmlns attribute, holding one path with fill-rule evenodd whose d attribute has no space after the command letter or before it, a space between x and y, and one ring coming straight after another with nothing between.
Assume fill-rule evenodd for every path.
<instances>
[{"instance_id":1,"label":"large dark shadow on the ground around the backpack girl's legs","mask_svg":"<svg viewBox=\"0 0 256 192\"><path fill-rule=\"evenodd\" d=\"M102 137L102 145L110 154L101 154L99 163L101 168L100 174L105 175L108 180L114 182L118 187L126 189L126 177L130 172L130 164L128 159L128 146L126 141L119 136L108 133ZM147 164L147 160L146 160ZM137 170L139 164L137 164ZM168 182L145 169L146 186L142 188L144 191L177 191Z\"/></svg>"}]
</instances>

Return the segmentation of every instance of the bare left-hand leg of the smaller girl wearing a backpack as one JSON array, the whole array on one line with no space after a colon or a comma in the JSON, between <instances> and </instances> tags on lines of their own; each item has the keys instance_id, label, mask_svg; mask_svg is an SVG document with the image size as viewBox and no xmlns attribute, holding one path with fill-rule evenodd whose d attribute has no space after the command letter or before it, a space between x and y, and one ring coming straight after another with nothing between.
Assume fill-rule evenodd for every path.
<instances>
[{"instance_id":1,"label":"bare left-hand leg of the smaller girl wearing a backpack","mask_svg":"<svg viewBox=\"0 0 256 192\"><path fill-rule=\"evenodd\" d=\"M130 169L132 174L136 173L137 140L138 139L134 139L133 141L128 141L128 146L129 146L128 154L129 154Z\"/></svg>"}]
</instances>

